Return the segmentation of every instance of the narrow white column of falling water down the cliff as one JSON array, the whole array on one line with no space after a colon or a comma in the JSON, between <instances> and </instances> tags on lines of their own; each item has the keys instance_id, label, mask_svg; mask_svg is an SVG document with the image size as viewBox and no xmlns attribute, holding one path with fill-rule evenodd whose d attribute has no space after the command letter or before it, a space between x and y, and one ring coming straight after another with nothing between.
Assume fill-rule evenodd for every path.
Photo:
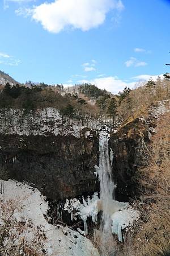
<instances>
[{"instance_id":1,"label":"narrow white column of falling water down the cliff","mask_svg":"<svg viewBox=\"0 0 170 256\"><path fill-rule=\"evenodd\" d=\"M114 183L112 180L112 166L108 148L109 130L100 131L99 139L99 179L100 179L100 200L103 208L101 230L103 243L107 242L108 237L112 236L111 216L109 208L113 204L114 199Z\"/></svg>"}]
</instances>

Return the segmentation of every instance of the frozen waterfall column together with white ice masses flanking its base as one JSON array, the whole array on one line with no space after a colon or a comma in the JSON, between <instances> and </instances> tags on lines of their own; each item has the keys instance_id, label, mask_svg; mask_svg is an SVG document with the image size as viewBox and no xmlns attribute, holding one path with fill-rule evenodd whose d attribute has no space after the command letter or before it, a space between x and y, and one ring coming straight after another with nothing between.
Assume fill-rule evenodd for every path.
<instances>
[{"instance_id":1,"label":"frozen waterfall column together with white ice masses flanking its base","mask_svg":"<svg viewBox=\"0 0 170 256\"><path fill-rule=\"evenodd\" d=\"M103 243L112 233L118 235L118 240L122 242L122 230L131 226L134 220L138 220L139 212L130 207L129 203L114 200L114 188L116 184L112 180L113 151L108 148L109 130L100 132L99 141L99 167L95 166L95 175L100 179L100 199L97 193L87 199L82 198L81 204L78 199L66 201L64 210L71 214L72 220L77 217L84 222L84 234L88 233L87 217L93 222L97 222L97 214L102 212L101 230L103 232ZM73 214L74 212L74 214Z\"/></svg>"}]
</instances>

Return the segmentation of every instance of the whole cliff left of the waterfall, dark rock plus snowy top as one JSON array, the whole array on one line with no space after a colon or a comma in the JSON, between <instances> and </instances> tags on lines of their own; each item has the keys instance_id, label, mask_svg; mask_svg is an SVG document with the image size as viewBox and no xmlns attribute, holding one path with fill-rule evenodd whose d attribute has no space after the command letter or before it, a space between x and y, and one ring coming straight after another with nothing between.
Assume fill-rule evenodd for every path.
<instances>
[{"instance_id":1,"label":"whole cliff left of the waterfall, dark rock plus snowy top","mask_svg":"<svg viewBox=\"0 0 170 256\"><path fill-rule=\"evenodd\" d=\"M0 131L2 179L32 183L54 201L99 191L95 130L63 120L49 108L35 113L2 109Z\"/></svg>"}]
</instances>

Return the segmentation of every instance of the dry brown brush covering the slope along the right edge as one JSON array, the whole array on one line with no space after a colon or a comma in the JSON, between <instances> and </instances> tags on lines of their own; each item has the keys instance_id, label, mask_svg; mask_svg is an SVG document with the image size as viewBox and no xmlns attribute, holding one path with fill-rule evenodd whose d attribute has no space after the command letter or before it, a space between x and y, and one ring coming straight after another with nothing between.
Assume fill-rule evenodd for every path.
<instances>
[{"instance_id":1,"label":"dry brown brush covering the slope along the right edge","mask_svg":"<svg viewBox=\"0 0 170 256\"><path fill-rule=\"evenodd\" d=\"M170 255L170 113L158 123L150 146L143 147L147 166L140 170L141 221L133 235L125 239L124 253L120 255ZM131 241L131 253L125 253Z\"/></svg>"}]
</instances>

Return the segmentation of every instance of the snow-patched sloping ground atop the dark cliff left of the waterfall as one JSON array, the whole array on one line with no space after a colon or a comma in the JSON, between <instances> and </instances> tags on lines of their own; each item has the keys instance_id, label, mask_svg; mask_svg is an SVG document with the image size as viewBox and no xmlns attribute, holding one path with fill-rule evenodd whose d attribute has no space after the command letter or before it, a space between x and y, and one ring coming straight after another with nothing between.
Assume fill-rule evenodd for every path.
<instances>
[{"instance_id":1,"label":"snow-patched sloping ground atop the dark cliff left of the waterfall","mask_svg":"<svg viewBox=\"0 0 170 256\"><path fill-rule=\"evenodd\" d=\"M29 113L24 109L0 109L0 133L18 135L74 135L80 137L84 126L99 128L99 122L90 117L83 123L77 119L62 119L58 109L46 108Z\"/></svg>"}]
</instances>

